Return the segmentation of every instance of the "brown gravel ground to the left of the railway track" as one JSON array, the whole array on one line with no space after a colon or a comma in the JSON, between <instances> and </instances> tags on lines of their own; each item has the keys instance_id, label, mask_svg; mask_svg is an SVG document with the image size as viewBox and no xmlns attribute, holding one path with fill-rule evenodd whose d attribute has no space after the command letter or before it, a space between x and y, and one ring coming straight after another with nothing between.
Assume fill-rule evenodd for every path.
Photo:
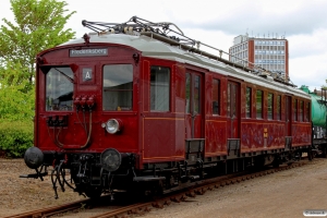
<instances>
[{"instance_id":1,"label":"brown gravel ground to the left of the railway track","mask_svg":"<svg viewBox=\"0 0 327 218\"><path fill-rule=\"evenodd\" d=\"M59 198L55 199L50 177L45 181L20 178L28 173L35 171L27 168L23 159L0 158L0 217L84 198L66 189L64 193L58 190Z\"/></svg>"}]
</instances>

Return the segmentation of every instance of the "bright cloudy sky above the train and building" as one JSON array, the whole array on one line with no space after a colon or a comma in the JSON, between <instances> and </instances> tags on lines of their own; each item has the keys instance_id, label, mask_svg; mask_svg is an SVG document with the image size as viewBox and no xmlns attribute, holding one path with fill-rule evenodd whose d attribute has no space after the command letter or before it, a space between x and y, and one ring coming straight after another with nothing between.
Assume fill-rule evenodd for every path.
<instances>
[{"instance_id":1,"label":"bright cloudy sky above the train and building","mask_svg":"<svg viewBox=\"0 0 327 218\"><path fill-rule=\"evenodd\" d=\"M319 89L327 80L326 0L66 0L76 13L66 28L76 38L92 32L82 21L123 23L136 15L152 22L171 22L184 35L228 51L234 37L278 38L289 41L289 75L298 87ZM14 21L10 0L1 0L2 19ZM218 55L218 53L215 53ZM227 57L226 57L227 58Z\"/></svg>"}]
</instances>

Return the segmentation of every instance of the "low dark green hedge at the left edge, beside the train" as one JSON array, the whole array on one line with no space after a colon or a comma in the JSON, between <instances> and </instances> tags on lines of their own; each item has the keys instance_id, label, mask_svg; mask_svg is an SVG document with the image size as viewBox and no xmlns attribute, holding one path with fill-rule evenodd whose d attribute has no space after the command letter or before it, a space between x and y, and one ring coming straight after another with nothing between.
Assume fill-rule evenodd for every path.
<instances>
[{"instance_id":1,"label":"low dark green hedge at the left edge, beside the train","mask_svg":"<svg viewBox=\"0 0 327 218\"><path fill-rule=\"evenodd\" d=\"M33 146L34 123L25 121L0 121L0 150L9 157L23 157Z\"/></svg>"}]
</instances>

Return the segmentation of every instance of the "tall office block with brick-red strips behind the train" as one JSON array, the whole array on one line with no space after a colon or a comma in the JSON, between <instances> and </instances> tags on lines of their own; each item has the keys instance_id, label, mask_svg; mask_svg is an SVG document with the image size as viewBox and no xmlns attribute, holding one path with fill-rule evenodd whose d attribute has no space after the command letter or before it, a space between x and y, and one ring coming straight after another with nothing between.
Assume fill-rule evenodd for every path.
<instances>
[{"instance_id":1,"label":"tall office block with brick-red strips behind the train","mask_svg":"<svg viewBox=\"0 0 327 218\"><path fill-rule=\"evenodd\" d=\"M289 45L284 38L254 38L241 35L229 48L230 61L251 68L251 63L282 75L289 81Z\"/></svg>"}]
</instances>

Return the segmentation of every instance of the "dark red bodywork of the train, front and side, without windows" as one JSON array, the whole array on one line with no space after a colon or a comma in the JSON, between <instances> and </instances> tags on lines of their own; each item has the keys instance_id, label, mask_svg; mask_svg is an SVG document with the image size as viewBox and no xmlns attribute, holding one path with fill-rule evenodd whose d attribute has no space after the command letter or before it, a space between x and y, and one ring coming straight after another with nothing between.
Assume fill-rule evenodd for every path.
<instances>
[{"instance_id":1,"label":"dark red bodywork of the train, front and side, without windows","mask_svg":"<svg viewBox=\"0 0 327 218\"><path fill-rule=\"evenodd\" d=\"M83 47L84 45L80 45ZM75 45L75 47L78 47ZM159 60L142 57L136 63L132 58L137 50L119 45L93 45L96 47L108 47L108 57L69 57L69 48L61 47L58 50L49 50L41 56L51 65L75 64L74 95L95 95L96 106L92 117L90 145L84 149L70 149L72 145L83 145L87 135L81 125L82 113L72 111L49 112L45 110L45 74L37 72L37 98L35 119L35 145L43 150L68 150L70 153L101 153L106 148L116 148L121 153L134 153L140 155L140 165L146 162L177 161L185 157L185 140L205 138L205 157L227 156L227 141L239 138L241 153L263 152L284 147L284 137L292 136L293 146L305 146L311 142L310 122L287 122L286 98L292 98L283 92L271 90L264 86L246 83L242 80L217 72L192 66L185 63ZM140 53L142 55L142 53ZM133 109L132 111L104 111L102 110L102 65L111 63L133 64ZM150 111L150 66L160 65L170 69L170 110L167 112ZM83 83L81 78L82 69L90 68L96 73L90 82ZM185 113L185 74L192 77L193 94L199 98L199 111L195 114ZM197 78L196 78L197 76ZM211 81L220 81L219 90L219 114L213 114L211 109ZM193 81L199 80L199 86ZM232 90L228 90L232 86ZM252 92L252 118L245 118L245 88ZM256 119L255 90L264 93L263 118ZM267 119L267 93L281 96L281 119ZM198 96L197 96L198 94ZM296 97L299 98L299 97ZM300 98L299 98L300 99ZM302 99L308 101L307 99ZM276 104L276 99L274 99ZM231 113L233 110L235 113ZM59 141L66 144L68 149L57 147L51 138L58 132L48 128L46 120L49 116L68 116L68 126L61 130ZM77 117L80 116L80 117ZM276 109L274 117L277 116ZM119 119L123 122L123 131L120 134L108 134L101 123L108 119ZM87 113L85 120L88 121ZM290 130L291 128L291 130ZM289 135L291 134L291 135Z\"/></svg>"}]
</instances>

